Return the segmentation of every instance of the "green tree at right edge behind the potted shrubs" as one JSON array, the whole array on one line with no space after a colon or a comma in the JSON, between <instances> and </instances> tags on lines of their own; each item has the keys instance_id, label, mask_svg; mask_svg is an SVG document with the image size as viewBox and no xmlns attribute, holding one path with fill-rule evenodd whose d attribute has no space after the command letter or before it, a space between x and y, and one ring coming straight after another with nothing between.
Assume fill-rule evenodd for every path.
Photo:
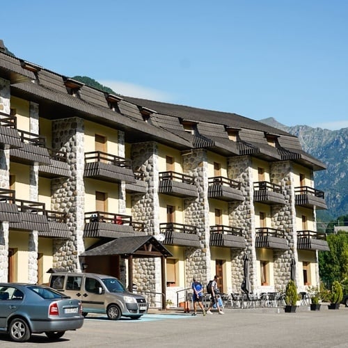
<instances>
[{"instance_id":1,"label":"green tree at right edge behind the potted shrubs","mask_svg":"<svg viewBox=\"0 0 348 348\"><path fill-rule=\"evenodd\" d=\"M330 251L319 252L319 276L330 287L348 277L348 234L339 232L326 238Z\"/></svg>"}]
</instances>

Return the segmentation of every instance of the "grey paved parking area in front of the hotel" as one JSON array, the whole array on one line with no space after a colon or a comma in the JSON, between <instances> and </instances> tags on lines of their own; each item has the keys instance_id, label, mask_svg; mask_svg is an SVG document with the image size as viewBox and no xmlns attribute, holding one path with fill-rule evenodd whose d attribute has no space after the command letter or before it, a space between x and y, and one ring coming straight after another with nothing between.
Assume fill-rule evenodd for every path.
<instances>
[{"instance_id":1,"label":"grey paved parking area in front of the hotel","mask_svg":"<svg viewBox=\"0 0 348 348\"><path fill-rule=\"evenodd\" d=\"M225 315L146 315L112 322L93 317L58 342L35 335L26 347L348 347L348 308L319 312L225 309ZM179 315L177 315L179 314ZM19 347L0 335L1 348Z\"/></svg>"}]
</instances>

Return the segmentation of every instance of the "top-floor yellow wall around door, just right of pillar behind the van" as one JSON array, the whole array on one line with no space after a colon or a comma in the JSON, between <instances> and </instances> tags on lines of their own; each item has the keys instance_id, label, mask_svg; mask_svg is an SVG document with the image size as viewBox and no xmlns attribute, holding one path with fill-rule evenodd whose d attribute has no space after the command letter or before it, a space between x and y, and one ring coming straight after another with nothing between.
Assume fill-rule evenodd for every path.
<instances>
[{"instance_id":1,"label":"top-floor yellow wall around door, just right of pillar behind the van","mask_svg":"<svg viewBox=\"0 0 348 348\"><path fill-rule=\"evenodd\" d=\"M118 156L118 131L111 127L98 125L95 122L85 121L85 152L95 151L95 134L106 137L106 153Z\"/></svg>"}]
</instances>

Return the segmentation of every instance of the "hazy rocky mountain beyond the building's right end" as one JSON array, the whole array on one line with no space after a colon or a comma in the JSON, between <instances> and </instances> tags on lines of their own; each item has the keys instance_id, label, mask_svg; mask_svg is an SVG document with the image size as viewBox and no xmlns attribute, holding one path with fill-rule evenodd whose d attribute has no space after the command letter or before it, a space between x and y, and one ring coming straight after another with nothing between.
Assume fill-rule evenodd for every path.
<instances>
[{"instance_id":1,"label":"hazy rocky mountain beyond the building's right end","mask_svg":"<svg viewBox=\"0 0 348 348\"><path fill-rule=\"evenodd\" d=\"M260 120L299 138L303 150L320 159L326 171L315 172L315 188L325 192L327 210L318 210L319 221L331 221L348 212L348 128L331 131L306 125L287 127L274 118Z\"/></svg>"}]
</instances>

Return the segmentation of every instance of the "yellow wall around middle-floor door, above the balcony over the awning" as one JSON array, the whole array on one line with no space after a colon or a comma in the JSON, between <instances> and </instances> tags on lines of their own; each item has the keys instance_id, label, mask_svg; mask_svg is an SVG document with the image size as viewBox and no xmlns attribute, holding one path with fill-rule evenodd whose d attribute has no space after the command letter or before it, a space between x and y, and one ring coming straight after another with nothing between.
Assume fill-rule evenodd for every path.
<instances>
[{"instance_id":1,"label":"yellow wall around middle-floor door, above the balcony over the awning","mask_svg":"<svg viewBox=\"0 0 348 348\"><path fill-rule=\"evenodd\" d=\"M107 193L106 210L118 213L118 184L101 180L85 179L85 212L95 211L95 191Z\"/></svg>"}]
</instances>

